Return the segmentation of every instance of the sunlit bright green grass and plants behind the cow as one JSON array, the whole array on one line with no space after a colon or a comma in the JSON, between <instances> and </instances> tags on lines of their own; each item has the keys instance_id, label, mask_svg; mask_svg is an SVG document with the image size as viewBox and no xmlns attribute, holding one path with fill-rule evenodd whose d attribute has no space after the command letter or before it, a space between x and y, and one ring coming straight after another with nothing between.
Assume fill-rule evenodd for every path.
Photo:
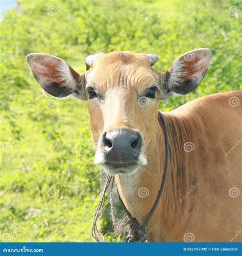
<instances>
[{"instance_id":1,"label":"sunlit bright green grass and plants behind the cow","mask_svg":"<svg viewBox=\"0 0 242 256\"><path fill-rule=\"evenodd\" d=\"M194 48L213 52L198 89L160 110L241 89L241 1L18 0L0 22L0 241L91 242L100 197L87 103L47 95L26 56L49 53L85 70L96 52L159 55L166 71ZM109 223L103 221L102 227ZM113 241L111 231L107 241ZM115 239L114 239L115 240Z\"/></svg>"}]
</instances>

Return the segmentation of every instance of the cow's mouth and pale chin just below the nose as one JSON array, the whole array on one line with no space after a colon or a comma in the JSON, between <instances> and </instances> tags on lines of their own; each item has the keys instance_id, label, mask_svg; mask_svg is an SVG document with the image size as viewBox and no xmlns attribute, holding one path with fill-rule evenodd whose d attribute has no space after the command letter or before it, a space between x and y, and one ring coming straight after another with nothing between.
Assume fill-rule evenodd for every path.
<instances>
[{"instance_id":1,"label":"cow's mouth and pale chin just below the nose","mask_svg":"<svg viewBox=\"0 0 242 256\"><path fill-rule=\"evenodd\" d=\"M133 174L139 168L138 163L104 163L102 168L109 175Z\"/></svg>"}]
</instances>

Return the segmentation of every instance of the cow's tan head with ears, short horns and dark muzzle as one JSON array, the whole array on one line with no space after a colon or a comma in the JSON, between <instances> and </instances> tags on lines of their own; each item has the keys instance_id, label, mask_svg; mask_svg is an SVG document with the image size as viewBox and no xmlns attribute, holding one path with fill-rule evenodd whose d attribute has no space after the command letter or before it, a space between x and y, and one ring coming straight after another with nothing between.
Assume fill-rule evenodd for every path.
<instances>
[{"instance_id":1,"label":"cow's tan head with ears, short horns and dark muzzle","mask_svg":"<svg viewBox=\"0 0 242 256\"><path fill-rule=\"evenodd\" d=\"M147 164L155 150L159 100L195 89L211 55L209 49L187 52L166 72L151 68L156 55L132 52L88 56L87 71L80 74L49 54L32 53L27 60L47 93L88 100L94 162L115 175L135 173Z\"/></svg>"}]
</instances>

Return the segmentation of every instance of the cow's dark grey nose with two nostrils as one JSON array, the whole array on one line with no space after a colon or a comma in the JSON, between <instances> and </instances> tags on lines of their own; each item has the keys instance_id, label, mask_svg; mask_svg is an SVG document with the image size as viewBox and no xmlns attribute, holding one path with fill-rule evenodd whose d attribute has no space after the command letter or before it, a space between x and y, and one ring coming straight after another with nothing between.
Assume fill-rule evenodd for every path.
<instances>
[{"instance_id":1,"label":"cow's dark grey nose with two nostrils","mask_svg":"<svg viewBox=\"0 0 242 256\"><path fill-rule=\"evenodd\" d=\"M136 163L141 148L141 136L127 129L114 129L103 134L106 163Z\"/></svg>"}]
</instances>

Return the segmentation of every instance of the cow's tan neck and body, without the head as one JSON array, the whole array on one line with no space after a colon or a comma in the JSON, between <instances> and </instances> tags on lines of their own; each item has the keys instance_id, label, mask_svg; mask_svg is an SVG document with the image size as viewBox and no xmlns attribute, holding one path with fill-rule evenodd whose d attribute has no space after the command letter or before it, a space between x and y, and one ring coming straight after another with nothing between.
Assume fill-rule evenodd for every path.
<instances>
[{"instance_id":1,"label":"cow's tan neck and body, without the head","mask_svg":"<svg viewBox=\"0 0 242 256\"><path fill-rule=\"evenodd\" d=\"M242 92L206 96L165 114L170 163L162 199L147 227L152 230L148 241L183 242L184 235L192 233L196 242L228 242L241 229L241 200L229 196L232 187L241 191L241 145L225 156L241 138L241 114L234 111L231 115L228 104L232 96L241 100ZM116 177L118 190L139 223L153 206L162 179L164 137L160 120L157 126L151 146L156 148L155 153L148 159L146 171L135 180L132 197L125 192L128 178L120 181ZM183 150L187 141L195 145L194 151ZM138 196L141 187L148 188L147 198ZM241 241L241 236L235 241Z\"/></svg>"}]
</instances>

